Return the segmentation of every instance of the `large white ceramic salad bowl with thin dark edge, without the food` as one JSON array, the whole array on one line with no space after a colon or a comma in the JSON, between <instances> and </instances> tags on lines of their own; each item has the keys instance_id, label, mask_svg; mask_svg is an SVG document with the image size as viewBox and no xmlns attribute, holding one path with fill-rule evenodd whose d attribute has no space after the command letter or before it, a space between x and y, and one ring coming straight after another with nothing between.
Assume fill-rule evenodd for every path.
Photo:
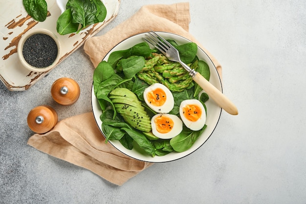
<instances>
[{"instance_id":1,"label":"large white ceramic salad bowl with thin dark edge, without the food","mask_svg":"<svg viewBox=\"0 0 306 204\"><path fill-rule=\"evenodd\" d=\"M156 33L158 33L161 37L163 37L165 39L175 40L175 42L178 45L186 44L186 43L190 42L186 38L183 38L183 37L181 37L179 35L176 35L176 34L167 33L167 32L156 32ZM103 60L108 61L109 54L113 51L125 50L125 49L130 48L133 45L144 42L143 37L145 37L145 33L141 33L141 34L132 36L132 37L122 41L121 43L119 43L118 45L113 47L109 51L109 53L105 56L105 58ZM220 81L219 74L217 72L216 67L212 63L211 59L199 47L198 47L198 50L197 50L197 56L200 60L205 61L210 68L210 80L209 80L210 83L212 83L217 89L222 91L222 86L221 86L221 81ZM96 120L96 123L97 123L100 131L102 132L102 130L101 130L102 122L100 120L100 115L102 114L102 111L101 111L101 108L99 106L98 100L94 95L93 87L92 87L92 91L91 91L91 102L92 102L92 111L93 111L93 114L94 114L94 118ZM203 134L201 136L199 136L199 138L197 139L195 144L185 152L181 152L181 153L171 152L170 154L165 155L165 156L151 157L150 155L143 154L141 151L139 151L135 148L133 148L132 150L128 150L124 146L122 146L121 143L117 140L109 140L109 142L115 148L117 148L119 151L124 153L125 155L128 155L131 158L139 159L139 160L142 160L142 161L166 162L166 161L173 161L173 160L176 160L176 159L183 158L183 157L193 153L194 151L196 151L199 147L201 147L205 143L205 141L212 135L212 133L214 132L214 130L215 130L217 124L218 124L219 117L220 117L220 114L221 114L221 108L212 99L209 99L205 103L205 105L207 107L207 118L206 118L207 128L204 130ZM102 134L103 134L103 132L102 132Z\"/></svg>"}]
</instances>

